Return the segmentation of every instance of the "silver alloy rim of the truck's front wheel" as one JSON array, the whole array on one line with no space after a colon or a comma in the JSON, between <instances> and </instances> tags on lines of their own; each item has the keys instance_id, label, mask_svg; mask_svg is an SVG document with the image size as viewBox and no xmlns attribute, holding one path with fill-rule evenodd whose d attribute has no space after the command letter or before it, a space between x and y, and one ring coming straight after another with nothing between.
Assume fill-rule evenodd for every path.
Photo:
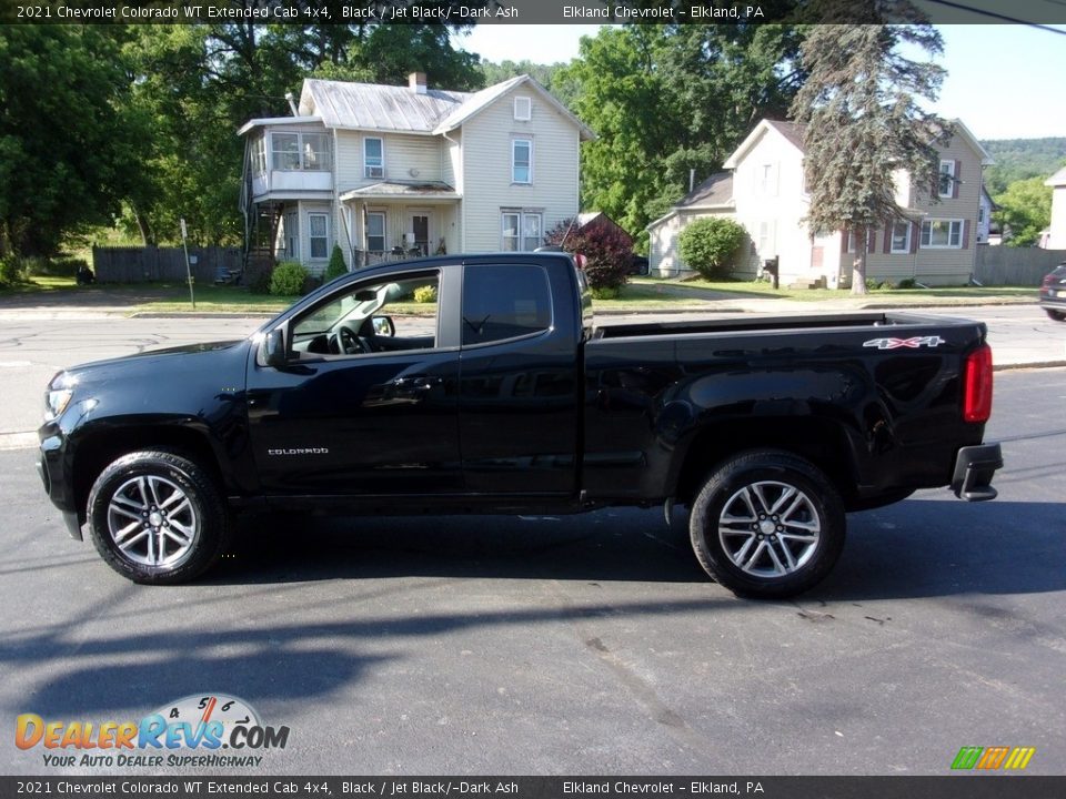
<instances>
[{"instance_id":1,"label":"silver alloy rim of the truck's front wheel","mask_svg":"<svg viewBox=\"0 0 1066 799\"><path fill-rule=\"evenodd\" d=\"M108 532L128 560L173 568L200 537L200 517L189 495L157 475L131 477L111 495Z\"/></svg>"}]
</instances>

